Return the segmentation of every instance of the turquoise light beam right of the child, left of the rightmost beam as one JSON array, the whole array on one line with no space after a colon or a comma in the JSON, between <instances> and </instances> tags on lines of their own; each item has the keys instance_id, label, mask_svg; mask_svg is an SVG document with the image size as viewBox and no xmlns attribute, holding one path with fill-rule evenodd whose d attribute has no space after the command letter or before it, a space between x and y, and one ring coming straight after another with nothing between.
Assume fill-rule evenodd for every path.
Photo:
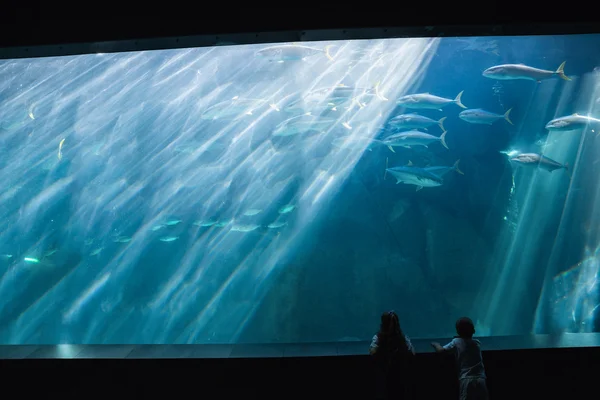
<instances>
[{"instance_id":1,"label":"turquoise light beam right of the child, left of the rightmost beam","mask_svg":"<svg viewBox=\"0 0 600 400\"><path fill-rule=\"evenodd\" d=\"M554 90L549 86L546 91L538 89L532 104L537 105L536 110L529 110L533 115L544 113L544 108L548 108L548 101L543 99L550 98L549 92ZM561 100L558 110L564 110L568 106L571 93L564 91L561 93ZM582 94L581 100L589 96ZM541 110L540 110L541 109ZM522 321L523 310L535 309L536 304L524 303L523 299L527 297L514 296L514 293L528 293L537 287L547 285L549 278L556 269L564 268L564 265L557 265L559 260L563 259L565 251L565 238L569 235L572 228L568 225L570 221L570 210L575 205L570 202L569 196L565 197L561 193L570 193L574 187L581 184L579 178L580 169L578 166L584 157L585 145L590 142L589 132L551 132L548 133L546 145L537 152L561 163L569 163L569 170L557 170L553 173L543 171L539 168L528 169L513 166L515 169L514 181L516 182L516 198L521 204L519 210L519 221L516 224L517 229L511 233L509 229L503 233L501 239L496 244L497 256L492 259L499 263L490 271L489 276L498 276L494 271L501 271L498 278L488 279L483 293L480 297L482 301L478 304L488 304L482 310L478 306L473 307L473 314L482 315L484 321L491 326L494 335L506 335L522 333L528 334L535 329L535 321L531 326L518 325ZM522 150L528 152L531 150ZM587 180L588 182L590 180ZM592 180L596 182L596 180ZM560 216L558 219L549 219L553 215ZM548 232L557 229L554 245L549 249L540 252L540 244ZM507 250L508 249L508 250ZM539 264L545 265L543 272L539 271ZM537 279L538 276L546 275L546 282ZM545 296L550 293L543 293L540 301L543 303ZM483 299L485 298L485 299ZM537 305L538 314L540 304ZM526 311L525 311L526 312Z\"/></svg>"}]
</instances>

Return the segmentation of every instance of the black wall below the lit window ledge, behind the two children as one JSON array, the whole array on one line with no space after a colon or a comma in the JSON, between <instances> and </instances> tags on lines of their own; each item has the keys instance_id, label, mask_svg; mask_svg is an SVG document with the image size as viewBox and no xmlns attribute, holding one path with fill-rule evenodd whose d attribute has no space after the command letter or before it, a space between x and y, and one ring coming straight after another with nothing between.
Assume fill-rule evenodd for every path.
<instances>
[{"instance_id":1,"label":"black wall below the lit window ledge, behind the two children","mask_svg":"<svg viewBox=\"0 0 600 400\"><path fill-rule=\"evenodd\" d=\"M600 349L484 353L492 399L597 397ZM88 395L142 398L373 398L368 356L181 360L3 360L2 392L63 399ZM453 359L419 354L419 399L456 399Z\"/></svg>"}]
</instances>

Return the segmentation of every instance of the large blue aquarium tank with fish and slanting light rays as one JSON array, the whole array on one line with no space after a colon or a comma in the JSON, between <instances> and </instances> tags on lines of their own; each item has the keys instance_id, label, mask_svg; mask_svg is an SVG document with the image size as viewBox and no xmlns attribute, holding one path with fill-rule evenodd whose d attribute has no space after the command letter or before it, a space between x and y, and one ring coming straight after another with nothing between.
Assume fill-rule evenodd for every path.
<instances>
[{"instance_id":1,"label":"large blue aquarium tank with fish and slanting light rays","mask_svg":"<svg viewBox=\"0 0 600 400\"><path fill-rule=\"evenodd\" d=\"M0 344L600 331L600 35L0 61Z\"/></svg>"}]
</instances>

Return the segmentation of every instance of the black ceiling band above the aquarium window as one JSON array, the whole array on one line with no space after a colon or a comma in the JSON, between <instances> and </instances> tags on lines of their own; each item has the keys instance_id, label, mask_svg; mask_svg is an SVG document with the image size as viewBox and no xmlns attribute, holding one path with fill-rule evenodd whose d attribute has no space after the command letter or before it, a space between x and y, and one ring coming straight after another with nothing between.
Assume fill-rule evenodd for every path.
<instances>
[{"instance_id":1,"label":"black ceiling band above the aquarium window","mask_svg":"<svg viewBox=\"0 0 600 400\"><path fill-rule=\"evenodd\" d=\"M362 27L501 25L503 33L579 33L596 29L595 13L573 2L411 0L302 1L16 1L2 2L0 47L89 43L165 36ZM576 22L586 25L573 25ZM551 27L541 25L553 23ZM569 24L557 26L556 24ZM599 28L600 30L600 28ZM477 34L478 32L475 32Z\"/></svg>"}]
</instances>

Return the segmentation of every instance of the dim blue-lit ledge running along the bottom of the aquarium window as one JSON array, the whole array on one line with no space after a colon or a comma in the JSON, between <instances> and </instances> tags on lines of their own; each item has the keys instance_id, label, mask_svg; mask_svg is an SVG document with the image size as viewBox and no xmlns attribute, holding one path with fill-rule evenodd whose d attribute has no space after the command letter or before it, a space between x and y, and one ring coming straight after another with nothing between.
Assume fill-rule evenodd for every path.
<instances>
[{"instance_id":1,"label":"dim blue-lit ledge running along the bottom of the aquarium window","mask_svg":"<svg viewBox=\"0 0 600 400\"><path fill-rule=\"evenodd\" d=\"M415 339L418 353L431 352L431 341L443 339ZM487 351L573 348L600 346L600 334L562 334L530 336L497 336L480 338ZM278 358L353 356L366 354L369 342L337 342L306 344L196 344L196 345L3 345L0 359L35 358Z\"/></svg>"}]
</instances>

